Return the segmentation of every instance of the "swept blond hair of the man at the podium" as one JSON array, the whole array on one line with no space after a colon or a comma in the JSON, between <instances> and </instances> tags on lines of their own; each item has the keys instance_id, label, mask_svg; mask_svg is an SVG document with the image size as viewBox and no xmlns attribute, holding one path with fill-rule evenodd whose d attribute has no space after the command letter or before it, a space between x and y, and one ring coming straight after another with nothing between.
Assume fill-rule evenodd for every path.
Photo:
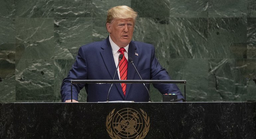
<instances>
[{"instance_id":1,"label":"swept blond hair of the man at the podium","mask_svg":"<svg viewBox=\"0 0 256 139\"><path fill-rule=\"evenodd\" d=\"M112 7L107 11L106 24L111 23L113 19L126 19L126 18L133 18L133 22L135 23L137 16L138 16L138 13L128 6L123 5L123 6Z\"/></svg>"}]
</instances>

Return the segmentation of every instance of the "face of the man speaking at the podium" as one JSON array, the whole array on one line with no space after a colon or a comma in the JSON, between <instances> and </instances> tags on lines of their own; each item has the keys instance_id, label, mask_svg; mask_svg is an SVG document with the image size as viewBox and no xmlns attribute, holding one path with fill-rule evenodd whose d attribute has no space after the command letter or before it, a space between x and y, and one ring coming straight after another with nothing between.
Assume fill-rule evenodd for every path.
<instances>
[{"instance_id":1,"label":"face of the man speaking at the podium","mask_svg":"<svg viewBox=\"0 0 256 139\"><path fill-rule=\"evenodd\" d=\"M132 18L114 19L111 23L107 23L106 26L111 39L120 48L127 46L131 42L134 29Z\"/></svg>"}]
</instances>

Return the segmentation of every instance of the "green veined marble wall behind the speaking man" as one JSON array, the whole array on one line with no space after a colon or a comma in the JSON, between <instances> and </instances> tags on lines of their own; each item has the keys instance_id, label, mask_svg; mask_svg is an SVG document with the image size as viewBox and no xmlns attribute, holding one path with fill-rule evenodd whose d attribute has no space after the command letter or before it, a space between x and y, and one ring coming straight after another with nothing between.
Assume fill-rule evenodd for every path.
<instances>
[{"instance_id":1,"label":"green veined marble wall behind the speaking man","mask_svg":"<svg viewBox=\"0 0 256 139\"><path fill-rule=\"evenodd\" d=\"M187 80L187 101L256 100L229 50L256 42L256 0L0 1L0 43L26 44L15 76L0 82L0 102L60 102L78 48L107 37L106 10L117 5L139 13L133 39L153 44L172 78ZM153 86L151 95L162 100Z\"/></svg>"}]
</instances>

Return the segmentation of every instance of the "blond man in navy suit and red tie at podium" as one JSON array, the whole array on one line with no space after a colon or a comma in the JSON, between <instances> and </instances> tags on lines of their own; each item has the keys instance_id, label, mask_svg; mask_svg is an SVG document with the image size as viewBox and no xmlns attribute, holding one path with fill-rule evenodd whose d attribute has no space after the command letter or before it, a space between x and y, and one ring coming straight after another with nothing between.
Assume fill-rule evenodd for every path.
<instances>
[{"instance_id":1,"label":"blond man in navy suit and red tie at podium","mask_svg":"<svg viewBox=\"0 0 256 139\"><path fill-rule=\"evenodd\" d=\"M171 80L155 57L152 44L131 41L137 12L128 6L116 6L108 10L106 29L108 37L99 42L81 46L76 61L61 86L62 102L71 102L70 80ZM140 76L131 64L133 61ZM177 94L184 98L176 84L153 84L162 94ZM77 102L82 88L87 92L87 102L104 102L110 84L73 84L72 98ZM149 84L146 84L149 89ZM143 84L113 84L109 101L148 102L149 94Z\"/></svg>"}]
</instances>

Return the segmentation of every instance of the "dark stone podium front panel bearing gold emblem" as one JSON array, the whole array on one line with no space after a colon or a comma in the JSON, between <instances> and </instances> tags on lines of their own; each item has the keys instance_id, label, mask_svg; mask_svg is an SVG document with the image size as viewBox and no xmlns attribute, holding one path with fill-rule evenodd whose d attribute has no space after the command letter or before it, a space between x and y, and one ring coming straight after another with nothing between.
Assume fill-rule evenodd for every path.
<instances>
[{"instance_id":1,"label":"dark stone podium front panel bearing gold emblem","mask_svg":"<svg viewBox=\"0 0 256 139\"><path fill-rule=\"evenodd\" d=\"M2 103L0 138L256 138L255 102Z\"/></svg>"}]
</instances>

